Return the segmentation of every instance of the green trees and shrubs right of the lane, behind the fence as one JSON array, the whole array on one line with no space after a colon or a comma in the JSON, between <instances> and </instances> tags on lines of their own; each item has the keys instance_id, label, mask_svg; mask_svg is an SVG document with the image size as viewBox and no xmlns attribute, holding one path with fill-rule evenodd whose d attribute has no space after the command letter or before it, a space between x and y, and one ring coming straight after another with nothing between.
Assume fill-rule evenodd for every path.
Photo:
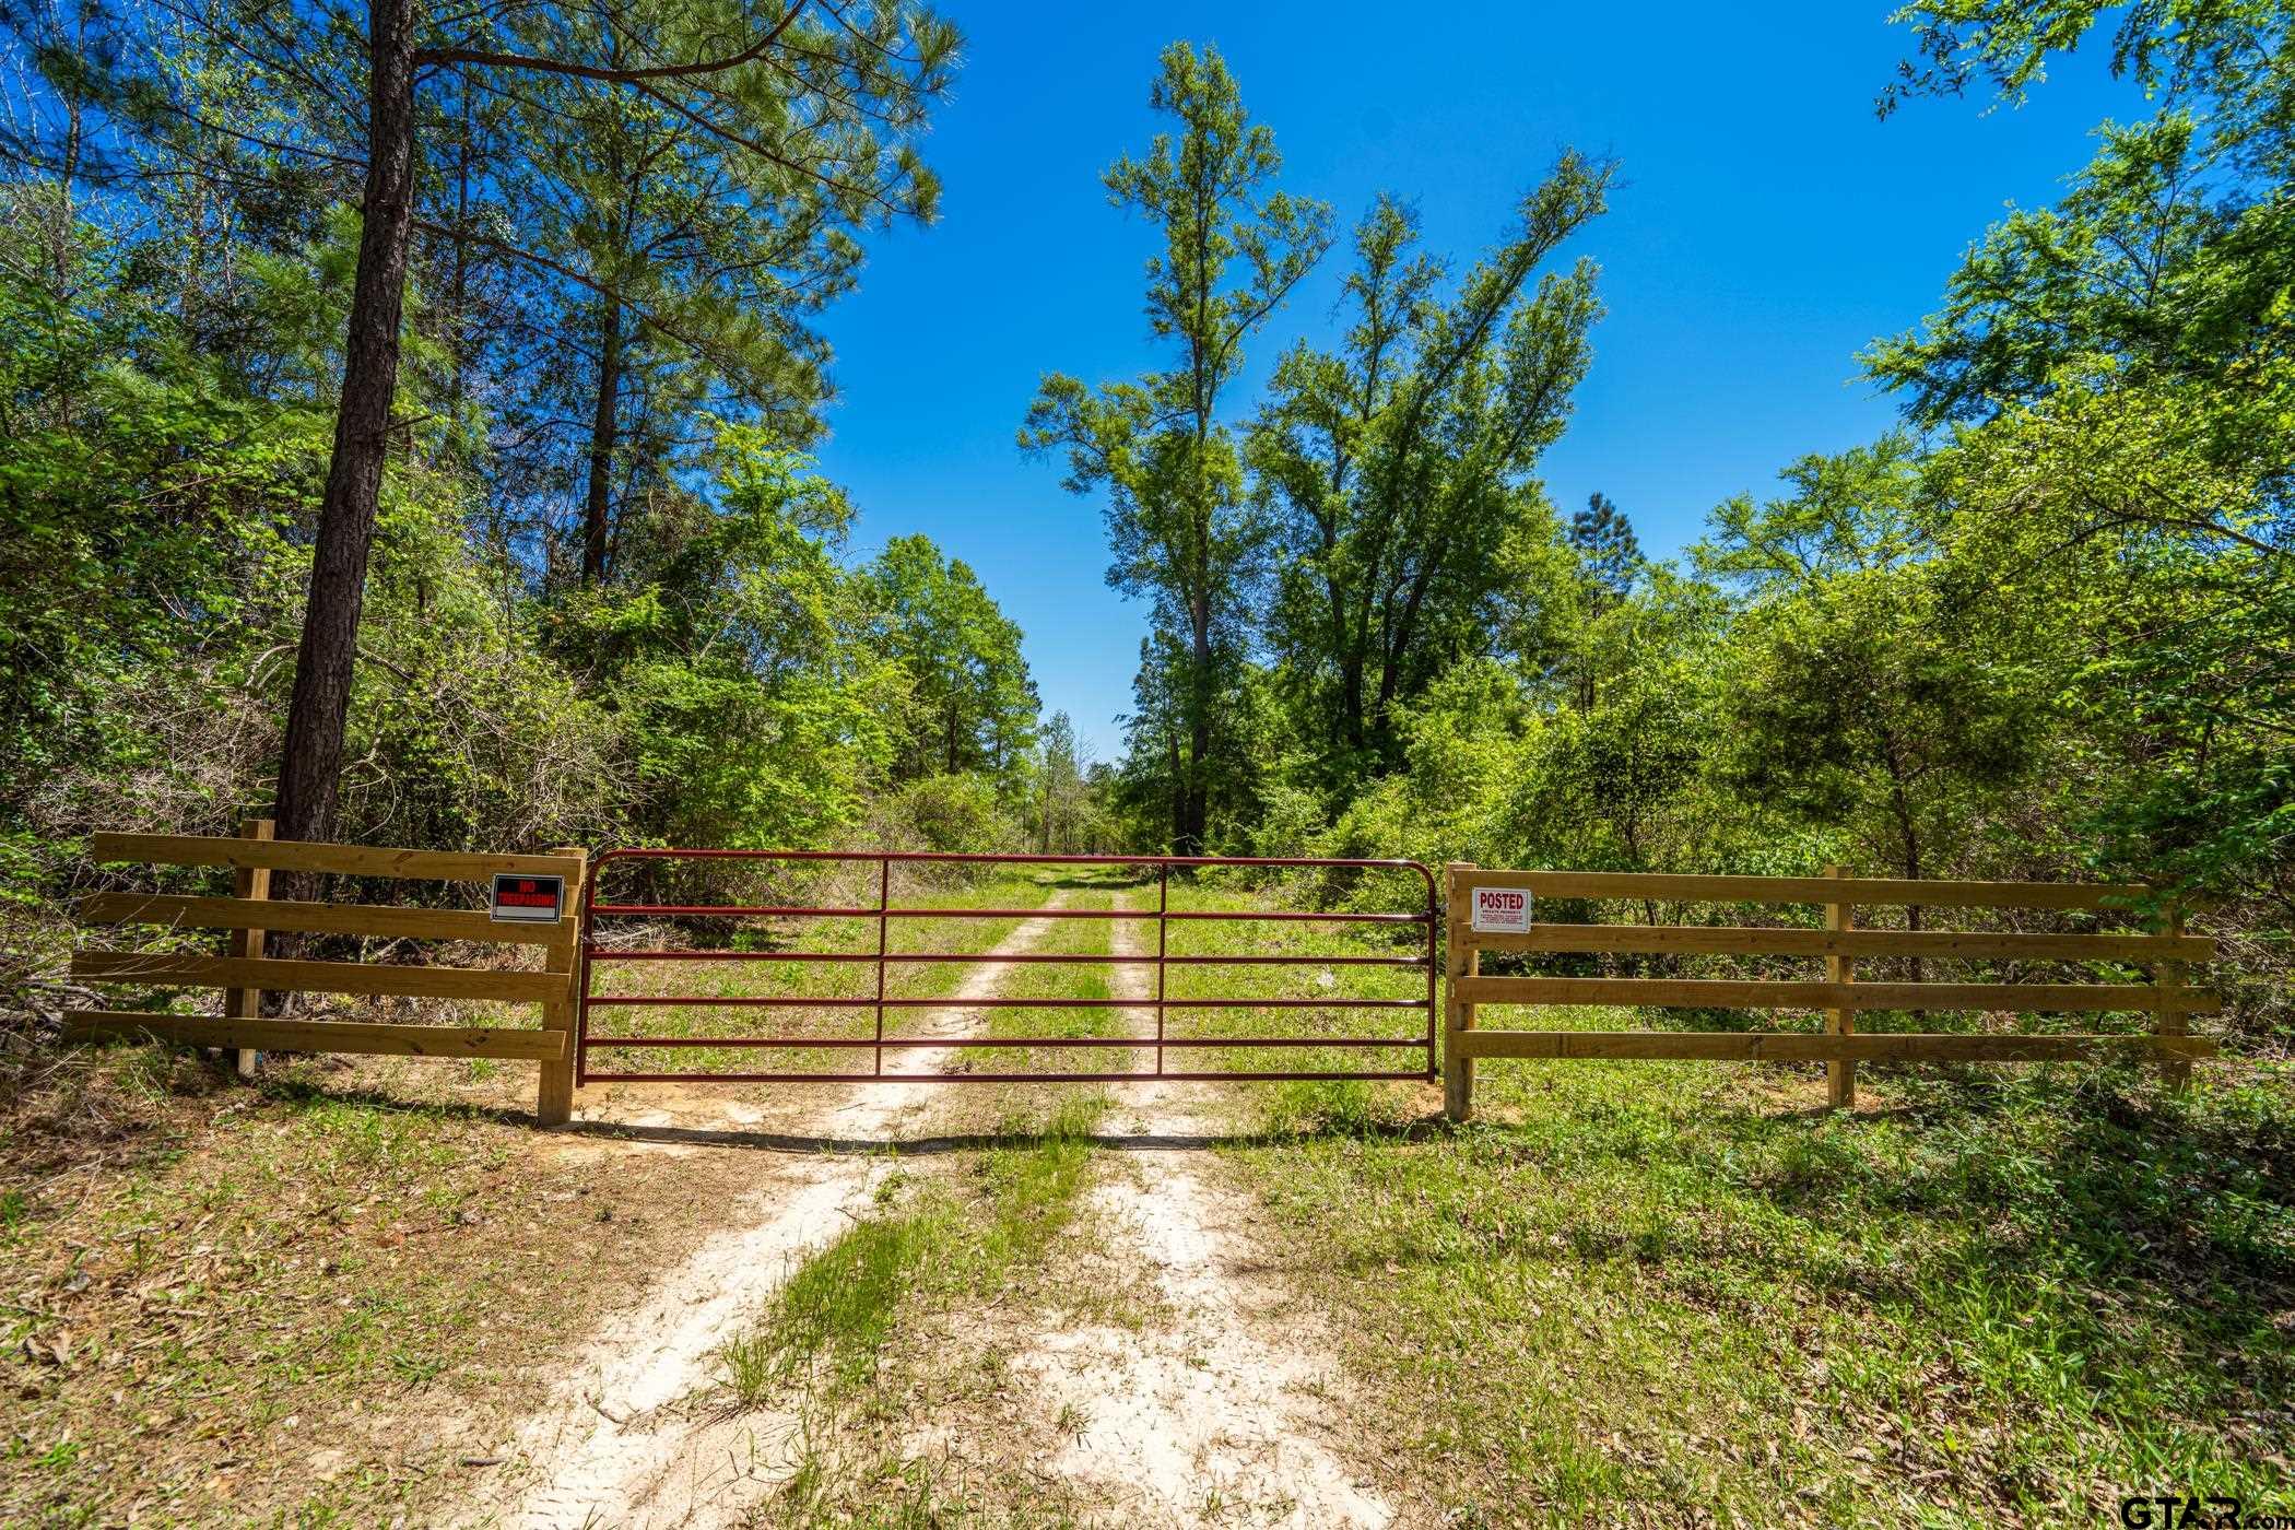
<instances>
[{"instance_id":1,"label":"green trees and shrubs right of the lane, behind the fence","mask_svg":"<svg viewBox=\"0 0 2295 1530\"><path fill-rule=\"evenodd\" d=\"M1880 101L2020 101L2095 7L1912 5ZM1106 516L1148 601L1118 805L1182 851L1903 876L2137 876L2295 899L2295 34L2137 5L2153 115L1985 229L1877 339L1882 438L1712 507L1682 557L1540 477L1593 365L1618 195L1574 151L1473 257L1407 195L1340 234L1283 186L1216 50L1106 172L1157 234L1166 362L1051 372L1019 443ZM1343 261L1327 339L1244 351Z\"/></svg>"}]
</instances>

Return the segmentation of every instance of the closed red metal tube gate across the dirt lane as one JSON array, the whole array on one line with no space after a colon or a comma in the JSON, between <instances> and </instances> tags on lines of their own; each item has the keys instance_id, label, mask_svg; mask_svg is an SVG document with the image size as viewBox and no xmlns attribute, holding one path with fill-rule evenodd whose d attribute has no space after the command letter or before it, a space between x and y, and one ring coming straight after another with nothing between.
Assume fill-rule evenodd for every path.
<instances>
[{"instance_id":1,"label":"closed red metal tube gate across the dirt lane","mask_svg":"<svg viewBox=\"0 0 2295 1530\"><path fill-rule=\"evenodd\" d=\"M640 865L643 862L643 865ZM668 867L659 862L670 862ZM799 869L799 862L810 862L801 869L826 874L833 881L842 874L847 881L858 872L865 881L874 883L874 901L845 897L842 901L613 901L599 895L599 885L622 867L627 874L645 872L656 885L675 881L679 874L693 879L716 879L721 885L748 867L723 867L709 862L757 862L755 869ZM1145 879L1154 879L1154 908L1129 908L1113 906L1118 892L1129 892L1131 888L1111 888L1108 908L1010 908L1010 906L968 906L957 901L932 904L904 897L895 901L895 874L897 872L929 872L941 869L991 869L991 867L1060 867L1069 872L1102 869L1108 874L1129 874L1134 888L1145 890ZM1416 876L1423 885L1423 901L1418 897L1395 897L1391 901L1407 906L1391 908L1347 908L1347 911L1299 911L1299 908L1232 908L1232 906L1203 906L1182 908L1175 906L1175 892L1191 892L1198 872L1214 867L1269 867L1269 869L1315 869L1327 876L1395 876L1407 883ZM874 872L874 876L868 876ZM1175 872L1180 879L1175 881ZM865 885L865 883L861 883ZM1209 901L1219 901L1212 897ZM645 920L652 927L679 929L686 927L686 940L672 943L656 934L640 934L643 945L613 945L601 938L601 922L613 920ZM755 927L739 929L741 924L755 920L773 920L776 927L764 931L769 936L780 936L787 931L789 922L806 922L808 927L845 924L845 936L851 936L847 945L854 950L760 950L755 947ZM1108 952L1030 952L1030 950L996 950L996 952L948 952L948 950L900 950L902 943L893 938L895 929L934 922L934 920L1113 920L1125 924L1152 924L1154 927L1154 950L1145 950L1145 940L1134 938L1136 950L1118 952L1118 927L1108 924L1111 940ZM1409 947L1398 947L1391 952L1361 950L1361 940L1354 940L1354 950L1343 952L1184 952L1175 950L1175 931L1187 931L1191 927L1212 924L1237 924L1251 922L1262 927L1274 927L1278 940L1297 940L1285 931L1297 931L1304 927L1402 927L1421 924L1423 940L1411 938ZM700 929L695 929L695 924ZM874 924L874 940L868 938L868 927ZM1363 931L1359 931L1363 934ZM1400 931L1395 931L1400 934ZM716 945L691 943L693 936L714 938ZM1336 934L1331 936L1338 938ZM748 945L744 945L748 940ZM576 1023L576 1080L578 1083L872 1083L872 1080L950 1080L950 1083L1049 1083L1049 1080L1125 1080L1125 1078L1180 1078L1180 1080L1237 1080L1237 1078L1427 1078L1437 1076L1434 1055L1434 973L1437 973L1437 888L1434 874L1418 865L1416 860L1327 860L1327 858L1235 858L1235 856L941 856L941 853L845 853L845 851L688 851L688 849L617 849L606 851L594 862L594 874L583 888L581 908L581 1014ZM801 947L835 945L835 940L806 938L799 940ZM734 963L732 970L741 970L739 963L750 963L750 968L764 968L762 982L748 984L744 991L730 991L730 982L718 982L716 991L670 991L656 986L654 991L629 991L629 989L604 989L601 968L649 966L649 963L711 963L707 968L693 966L668 966L661 970L725 970L714 963ZM1154 989L1152 993L1129 993L1108 998L1079 998L1079 996L929 996L929 993L904 993L893 991L904 986L902 975L909 970L927 970L943 963L994 963L994 966L1037 966L1037 963L1095 963L1106 966L1111 973L1111 986L1115 986L1118 968L1152 968ZM773 970L778 968L778 970ZM1198 991L1193 982L1180 982L1173 989L1177 975L1212 975L1219 968L1232 968L1242 973L1283 973L1299 970L1310 973L1313 982L1324 989L1336 989L1336 973L1370 973L1384 970L1418 970L1421 984L1409 984L1409 998L1395 996L1352 996L1352 993L1237 993L1237 991ZM822 975L851 973L861 977L865 991L840 991L840 993L796 993L799 986L810 986L810 979ZM888 975L893 982L888 984ZM1244 986L1244 979L1228 979ZM762 1009L767 1014L789 1014L796 1012L801 1023L815 1025L812 1032L792 1032L787 1025L778 1028L778 1035L725 1035L718 1030L705 1030L695 1035L695 1016L723 1016L741 1014L750 1009ZM1131 1012L1136 1016L1152 1012L1154 1032L1115 1035L1115 1037L980 1037L980 1035L904 1035L897 1023L893 1030L886 1025L886 1014L904 1012L1028 1012L1028 1009L1099 1009L1099 1012ZM622 1021L610 1030L599 1032L599 1014L638 1016L643 1012L670 1012L675 1021L654 1021L652 1030L643 1021ZM1223 1014L1223 1012L1246 1012L1246 1023L1267 1023L1269 1016L1278 1012L1306 1012L1301 1014L1294 1030L1283 1035L1242 1035L1242 1032L1207 1032L1200 1028L1175 1030L1175 1016L1191 1014ZM1393 1018L1395 1012L1414 1012L1416 1025L1407 1035L1324 1035L1313 1030L1317 1021L1329 1021L1333 1012L1375 1012ZM838 1016L845 1016L842 1021ZM868 1016L870 1030L865 1035L849 1035L858 1030L856 1021ZM888 1071L886 1053L913 1053L913 1051L936 1051L946 1055L962 1057L968 1048L1005 1048L1005 1051L1033 1051L1033 1048L1095 1048L1095 1051L1127 1051L1127 1053L1154 1053L1154 1067L1143 1069L1081 1069L1081 1071L966 1071L966 1069L941 1069L941 1071ZM1242 1067L1242 1069L1170 1069L1166 1067L1166 1053L1205 1055L1212 1051L1226 1053L1255 1053L1260 1048L1278 1048L1283 1053L1297 1053L1299 1048L1324 1051L1324 1053L1361 1053L1370 1062L1386 1060L1386 1053L1416 1051L1416 1067L1313 1067L1313 1069L1269 1069L1269 1067ZM643 1069L601 1069L592 1067L592 1053L672 1053L672 1055L695 1055L723 1053L739 1057L757 1057L771 1053L815 1053L835 1060L849 1057L856 1051L870 1053L870 1069L854 1071L851 1067L831 1064L801 1064L785 1071L757 1071L755 1067L730 1067L730 1069L688 1069L672 1071L666 1067L643 1067ZM1398 1062L1398 1060L1395 1060Z\"/></svg>"}]
</instances>

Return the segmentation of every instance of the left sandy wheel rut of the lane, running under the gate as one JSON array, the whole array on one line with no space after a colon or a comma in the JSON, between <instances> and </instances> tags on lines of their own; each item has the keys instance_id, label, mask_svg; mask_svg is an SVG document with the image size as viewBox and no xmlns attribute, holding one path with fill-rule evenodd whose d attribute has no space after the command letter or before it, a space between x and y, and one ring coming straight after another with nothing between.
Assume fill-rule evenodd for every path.
<instances>
[{"instance_id":1,"label":"left sandy wheel rut of the lane, running under the gate","mask_svg":"<svg viewBox=\"0 0 2295 1530\"><path fill-rule=\"evenodd\" d=\"M1067 901L1065 892L1044 908ZM1033 950L1053 920L1024 920L948 998L923 1035L959 1037L978 1025L1010 966L998 957ZM946 1067L952 1048L902 1053L904 1074ZM842 1140L884 1138L936 1101L907 1085L854 1085L851 1096L794 1129ZM750 1197L734 1225L718 1232L679 1269L654 1282L652 1296L594 1333L574 1358L551 1402L530 1415L505 1447L512 1466L503 1486L464 1519L470 1525L560 1530L656 1530L668 1525L741 1523L757 1489L794 1468L796 1415L698 1404L714 1383L718 1344L755 1317L810 1250L845 1230L868 1207L886 1163L874 1156L824 1154L789 1165Z\"/></svg>"}]
</instances>

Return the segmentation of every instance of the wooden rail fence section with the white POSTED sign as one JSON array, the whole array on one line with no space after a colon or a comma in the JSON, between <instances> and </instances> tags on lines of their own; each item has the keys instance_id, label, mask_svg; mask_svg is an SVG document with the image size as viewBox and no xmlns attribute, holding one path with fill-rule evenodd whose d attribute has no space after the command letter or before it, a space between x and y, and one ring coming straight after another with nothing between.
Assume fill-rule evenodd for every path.
<instances>
[{"instance_id":1,"label":"wooden rail fence section with the white POSTED sign","mask_svg":"<svg viewBox=\"0 0 2295 1530\"><path fill-rule=\"evenodd\" d=\"M1473 929L1476 890L1531 895L1526 929ZM1632 899L1703 904L1818 904L1822 929L1733 924L1547 924L1535 899ZM2189 1035L2189 1016L2210 1014L2215 996L2185 986L2192 961L2215 957L2215 940L2187 936L2171 911L2157 931L2137 934L1992 934L1953 929L1859 929L1859 906L1914 908L2056 908L2139 918L2148 897L2137 885L2059 885L2001 881L1896 881L1843 876L1662 876L1643 872L1489 872L1448 867L1448 1002L1444 1108L1450 1119L1473 1113L1478 1057L1682 1057L1735 1062L1825 1062L1829 1099L1857 1096L1857 1062L2059 1062L2105 1053L2160 1062L2173 1083L2215 1044ZM1483 952L1613 952L1822 957L1822 982L1685 979L1685 977L1483 977ZM2146 984L2109 982L1857 982L1859 957L2125 961L2150 968ZM1483 1005L1646 1005L1657 1009L1820 1009L1822 1032L1668 1032L1668 1030L1485 1030ZM2109 1012L2141 1009L2153 1028L2139 1035L1857 1035L1861 1009Z\"/></svg>"}]
</instances>

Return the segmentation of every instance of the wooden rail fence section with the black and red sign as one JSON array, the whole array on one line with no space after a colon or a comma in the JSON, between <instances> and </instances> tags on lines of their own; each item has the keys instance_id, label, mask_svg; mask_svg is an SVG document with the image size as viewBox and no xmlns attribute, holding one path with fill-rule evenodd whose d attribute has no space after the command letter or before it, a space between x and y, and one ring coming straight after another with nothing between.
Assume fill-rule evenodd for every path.
<instances>
[{"instance_id":1,"label":"wooden rail fence section with the black and red sign","mask_svg":"<svg viewBox=\"0 0 2295 1530\"><path fill-rule=\"evenodd\" d=\"M80 952L73 977L163 989L223 989L223 1014L147 1014L133 1009L73 1009L64 1035L158 1037L188 1046L239 1048L241 1071L259 1048L303 1053L402 1053L418 1057L509 1057L542 1064L535 1115L555 1126L574 1108L574 982L581 963L576 908L588 856L484 856L402 851L360 844L273 840L269 819L248 821L236 840L197 835L96 835L94 860L158 862L174 867L232 867L234 897L163 892L96 892L80 901L90 924L165 924L218 929L223 954ZM562 918L546 924L505 924L480 908L392 908L376 904L282 901L271 897L273 872L392 876L404 881L491 881L562 876ZM496 973L445 966L381 966L367 961L291 961L264 957L266 931L376 936L413 940L484 940L544 947L539 973ZM461 1025L372 1025L351 1021L262 1018L264 993L367 993L539 1005L539 1030Z\"/></svg>"}]
</instances>

